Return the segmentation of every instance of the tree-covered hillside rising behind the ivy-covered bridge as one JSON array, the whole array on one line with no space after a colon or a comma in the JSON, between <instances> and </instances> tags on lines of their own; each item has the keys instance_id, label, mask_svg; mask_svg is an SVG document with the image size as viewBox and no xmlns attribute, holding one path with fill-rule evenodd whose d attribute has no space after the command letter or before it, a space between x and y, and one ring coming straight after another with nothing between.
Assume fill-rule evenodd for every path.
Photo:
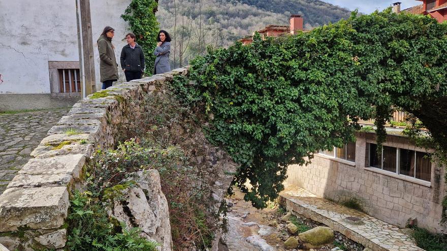
<instances>
[{"instance_id":1,"label":"tree-covered hillside rising behind the ivy-covered bridge","mask_svg":"<svg viewBox=\"0 0 447 251\"><path fill-rule=\"evenodd\" d=\"M347 18L350 11L318 0L159 0L156 16L171 34L177 67L208 45L229 46L266 25L289 25L292 14L303 15L304 28L311 29Z\"/></svg>"}]
</instances>

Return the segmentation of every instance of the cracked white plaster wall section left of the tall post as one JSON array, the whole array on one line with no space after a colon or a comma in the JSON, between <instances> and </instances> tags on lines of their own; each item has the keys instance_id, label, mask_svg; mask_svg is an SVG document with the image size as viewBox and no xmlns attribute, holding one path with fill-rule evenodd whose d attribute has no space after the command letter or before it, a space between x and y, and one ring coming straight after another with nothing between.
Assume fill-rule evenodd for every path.
<instances>
[{"instance_id":1,"label":"cracked white plaster wall section left of the tall post","mask_svg":"<svg viewBox=\"0 0 447 251\"><path fill-rule=\"evenodd\" d=\"M0 94L50 93L48 61L79 61L74 0L0 0Z\"/></svg>"}]
</instances>

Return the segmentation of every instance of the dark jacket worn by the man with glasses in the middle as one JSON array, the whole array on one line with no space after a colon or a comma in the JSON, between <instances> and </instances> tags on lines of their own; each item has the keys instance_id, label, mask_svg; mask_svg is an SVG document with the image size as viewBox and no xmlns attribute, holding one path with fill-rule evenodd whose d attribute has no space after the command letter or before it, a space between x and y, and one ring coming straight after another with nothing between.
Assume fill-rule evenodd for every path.
<instances>
[{"instance_id":1,"label":"dark jacket worn by the man with glasses in the middle","mask_svg":"<svg viewBox=\"0 0 447 251\"><path fill-rule=\"evenodd\" d=\"M135 45L135 49L132 49L130 45L125 45L121 50L120 62L121 68L126 71L143 71L143 48L138 44Z\"/></svg>"}]
</instances>

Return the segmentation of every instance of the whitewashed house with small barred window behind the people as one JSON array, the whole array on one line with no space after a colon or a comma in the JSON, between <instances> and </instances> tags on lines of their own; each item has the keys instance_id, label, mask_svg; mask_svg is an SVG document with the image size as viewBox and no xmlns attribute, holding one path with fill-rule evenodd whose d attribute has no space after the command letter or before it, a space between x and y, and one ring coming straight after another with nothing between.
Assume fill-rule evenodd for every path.
<instances>
[{"instance_id":1,"label":"whitewashed house with small barred window behind the people","mask_svg":"<svg viewBox=\"0 0 447 251\"><path fill-rule=\"evenodd\" d=\"M115 29L119 62L131 0L1 2L0 111L69 106L81 90L101 89L97 39Z\"/></svg>"}]
</instances>

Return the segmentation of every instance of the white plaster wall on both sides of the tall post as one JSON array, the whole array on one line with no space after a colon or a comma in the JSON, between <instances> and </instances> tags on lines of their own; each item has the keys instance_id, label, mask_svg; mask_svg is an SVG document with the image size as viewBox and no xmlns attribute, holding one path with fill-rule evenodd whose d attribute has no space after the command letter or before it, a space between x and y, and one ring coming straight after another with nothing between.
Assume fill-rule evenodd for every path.
<instances>
[{"instance_id":1,"label":"white plaster wall on both sides of the tall post","mask_svg":"<svg viewBox=\"0 0 447 251\"><path fill-rule=\"evenodd\" d=\"M115 28L119 64L129 26L120 16L131 0L90 0L97 89L101 89L97 39ZM0 94L50 93L48 61L79 61L76 0L0 0ZM124 74L118 68L121 80Z\"/></svg>"}]
</instances>

